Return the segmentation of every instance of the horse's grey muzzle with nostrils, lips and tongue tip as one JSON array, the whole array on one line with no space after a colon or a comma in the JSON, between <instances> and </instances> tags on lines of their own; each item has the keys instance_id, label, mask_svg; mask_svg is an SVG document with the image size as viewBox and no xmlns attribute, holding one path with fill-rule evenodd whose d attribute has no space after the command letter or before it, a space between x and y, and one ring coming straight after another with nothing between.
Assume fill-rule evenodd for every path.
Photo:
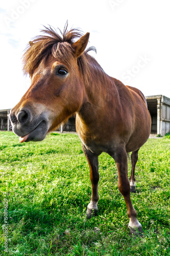
<instances>
[{"instance_id":1,"label":"horse's grey muzzle with nostrils, lips and tongue tip","mask_svg":"<svg viewBox=\"0 0 170 256\"><path fill-rule=\"evenodd\" d=\"M46 113L33 114L30 109L21 109L18 113L14 109L10 112L12 131L19 136L20 142L40 141L45 138L49 129Z\"/></svg>"}]
</instances>

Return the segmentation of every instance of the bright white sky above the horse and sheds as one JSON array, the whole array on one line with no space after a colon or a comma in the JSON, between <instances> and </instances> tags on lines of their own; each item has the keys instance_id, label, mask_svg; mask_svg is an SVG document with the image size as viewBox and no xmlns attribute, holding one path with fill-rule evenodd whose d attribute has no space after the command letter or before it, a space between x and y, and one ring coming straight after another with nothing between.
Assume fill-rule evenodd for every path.
<instances>
[{"instance_id":1,"label":"bright white sky above the horse and sheds","mask_svg":"<svg viewBox=\"0 0 170 256\"><path fill-rule=\"evenodd\" d=\"M0 2L0 109L30 86L22 75L26 45L48 24L90 32L88 47L107 74L145 96L170 97L169 0L8 0Z\"/></svg>"}]
</instances>

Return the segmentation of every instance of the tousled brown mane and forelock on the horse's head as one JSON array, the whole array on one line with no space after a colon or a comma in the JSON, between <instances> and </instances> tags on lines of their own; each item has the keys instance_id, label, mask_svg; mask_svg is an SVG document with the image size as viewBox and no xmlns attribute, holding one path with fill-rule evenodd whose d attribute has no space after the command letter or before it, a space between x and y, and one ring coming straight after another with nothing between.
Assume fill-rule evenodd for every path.
<instances>
[{"instance_id":1,"label":"tousled brown mane and forelock on the horse's head","mask_svg":"<svg viewBox=\"0 0 170 256\"><path fill-rule=\"evenodd\" d=\"M22 56L23 73L25 75L28 73L31 75L40 65L44 65L50 54L58 60L64 59L67 65L69 65L70 57L74 58L72 44L74 44L75 38L82 36L82 32L79 29L71 29L68 31L67 27L68 24L66 23L63 32L58 29L60 35L57 33L57 30L53 29L51 26L48 28L44 26L44 29L41 30L44 35L33 38ZM90 50L96 52L94 47L90 47L78 58L78 66L83 74L89 74L89 55L87 52Z\"/></svg>"}]
</instances>

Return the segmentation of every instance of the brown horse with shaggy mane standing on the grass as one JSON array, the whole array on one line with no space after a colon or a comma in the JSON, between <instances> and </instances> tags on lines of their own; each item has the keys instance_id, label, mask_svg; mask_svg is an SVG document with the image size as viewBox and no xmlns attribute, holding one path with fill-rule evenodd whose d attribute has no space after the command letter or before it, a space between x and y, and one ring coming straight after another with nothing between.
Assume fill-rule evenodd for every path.
<instances>
[{"instance_id":1,"label":"brown horse with shaggy mane standing on the grass","mask_svg":"<svg viewBox=\"0 0 170 256\"><path fill-rule=\"evenodd\" d=\"M11 110L13 132L20 142L40 141L64 120L76 114L76 129L90 167L92 187L87 217L98 210L98 157L108 153L116 162L118 189L127 205L130 231L142 232L132 205L135 164L147 141L151 118L143 94L108 76L85 48L89 33L67 30L60 36L51 27L42 30L23 55L23 71L31 86ZM75 38L79 39L75 42ZM127 153L132 152L128 180Z\"/></svg>"}]
</instances>

